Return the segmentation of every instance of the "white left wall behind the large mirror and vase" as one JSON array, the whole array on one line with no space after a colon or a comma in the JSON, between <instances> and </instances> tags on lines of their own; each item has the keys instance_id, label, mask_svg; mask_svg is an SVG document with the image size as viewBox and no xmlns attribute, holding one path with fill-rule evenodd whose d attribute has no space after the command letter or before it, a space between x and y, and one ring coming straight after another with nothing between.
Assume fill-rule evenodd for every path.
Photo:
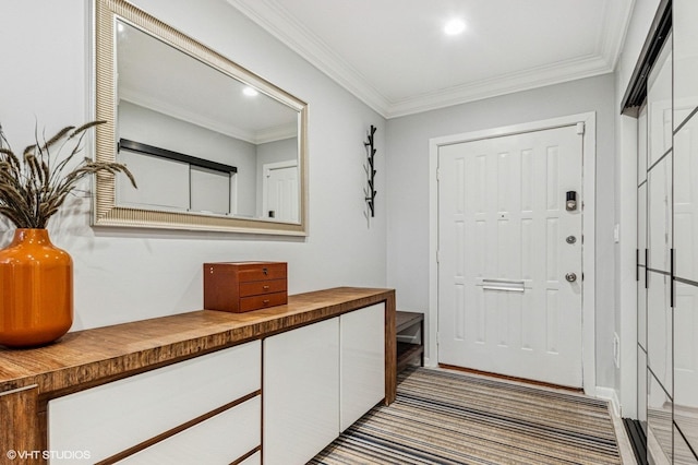
<instances>
[{"instance_id":1,"label":"white left wall behind the large mirror and vase","mask_svg":"<svg viewBox=\"0 0 698 465\"><path fill-rule=\"evenodd\" d=\"M133 3L310 104L310 236L92 228L89 201L75 199L48 226L53 242L74 261L73 331L200 309L207 261L288 261L290 294L385 286L385 120L225 0ZM16 151L33 141L35 120L52 134L92 119L89 4L3 3L0 122ZM362 165L371 124L378 128L378 196L368 227ZM0 246L11 235L1 223Z\"/></svg>"}]
</instances>

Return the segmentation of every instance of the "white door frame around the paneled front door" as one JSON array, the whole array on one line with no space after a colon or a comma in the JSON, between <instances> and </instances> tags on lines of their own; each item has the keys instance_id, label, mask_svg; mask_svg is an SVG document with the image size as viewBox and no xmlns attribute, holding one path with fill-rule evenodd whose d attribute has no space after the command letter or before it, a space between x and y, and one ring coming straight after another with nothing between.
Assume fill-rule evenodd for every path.
<instances>
[{"instance_id":1,"label":"white door frame around the paneled front door","mask_svg":"<svg viewBox=\"0 0 698 465\"><path fill-rule=\"evenodd\" d=\"M583 286L581 294L581 375L585 393L597 394L595 359L595 158L597 158L597 114L595 111L569 115L540 121L526 122L500 128L452 134L429 140L429 314L428 318L428 365L438 365L436 344L438 329L438 148L462 142L472 142L502 135L554 129L577 123L585 124L582 136L582 189L583 217L581 234L583 248L581 255Z\"/></svg>"}]
</instances>

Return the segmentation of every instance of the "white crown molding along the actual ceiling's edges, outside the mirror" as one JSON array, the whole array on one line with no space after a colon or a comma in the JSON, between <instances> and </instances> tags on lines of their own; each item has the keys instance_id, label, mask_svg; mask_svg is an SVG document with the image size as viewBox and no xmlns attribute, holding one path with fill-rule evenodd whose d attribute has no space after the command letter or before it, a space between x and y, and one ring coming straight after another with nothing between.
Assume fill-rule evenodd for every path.
<instances>
[{"instance_id":1,"label":"white crown molding along the actual ceiling's edges, outside the mirror","mask_svg":"<svg viewBox=\"0 0 698 465\"><path fill-rule=\"evenodd\" d=\"M275 0L227 1L386 119L613 72L635 5L606 3L603 35L591 56L394 102Z\"/></svg>"}]
</instances>

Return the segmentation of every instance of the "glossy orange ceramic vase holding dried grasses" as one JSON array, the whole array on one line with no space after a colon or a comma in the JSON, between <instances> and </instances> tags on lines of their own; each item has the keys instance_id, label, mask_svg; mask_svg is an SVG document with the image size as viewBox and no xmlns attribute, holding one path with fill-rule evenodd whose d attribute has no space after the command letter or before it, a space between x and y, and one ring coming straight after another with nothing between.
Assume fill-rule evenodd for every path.
<instances>
[{"instance_id":1,"label":"glossy orange ceramic vase holding dried grasses","mask_svg":"<svg viewBox=\"0 0 698 465\"><path fill-rule=\"evenodd\" d=\"M51 343L73 324L73 261L46 229L17 229L0 250L0 345Z\"/></svg>"}]
</instances>

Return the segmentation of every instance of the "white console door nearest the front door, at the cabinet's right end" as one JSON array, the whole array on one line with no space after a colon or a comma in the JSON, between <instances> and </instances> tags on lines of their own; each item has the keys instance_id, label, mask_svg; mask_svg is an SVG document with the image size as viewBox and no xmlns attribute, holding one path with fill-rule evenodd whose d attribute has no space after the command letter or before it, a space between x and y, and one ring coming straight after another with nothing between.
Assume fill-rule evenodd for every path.
<instances>
[{"instance_id":1,"label":"white console door nearest the front door, at the cabinet's right end","mask_svg":"<svg viewBox=\"0 0 698 465\"><path fill-rule=\"evenodd\" d=\"M339 320L340 431L385 397L385 305Z\"/></svg>"}]
</instances>

